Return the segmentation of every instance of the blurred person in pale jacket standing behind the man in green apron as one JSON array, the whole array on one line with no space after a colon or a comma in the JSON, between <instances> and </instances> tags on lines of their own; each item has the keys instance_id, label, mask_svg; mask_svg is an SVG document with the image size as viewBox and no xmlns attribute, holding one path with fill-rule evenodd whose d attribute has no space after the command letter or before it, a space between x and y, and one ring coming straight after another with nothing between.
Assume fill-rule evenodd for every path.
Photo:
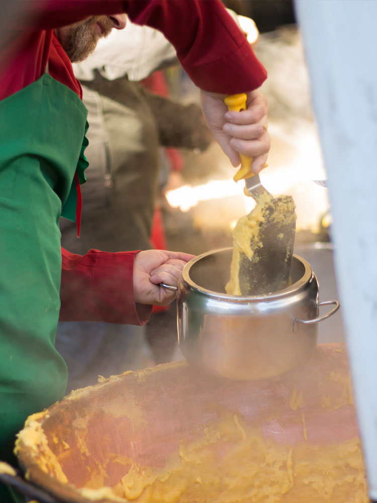
<instances>
[{"instance_id":1,"label":"blurred person in pale jacket standing behind the man in green apron","mask_svg":"<svg viewBox=\"0 0 377 503\"><path fill-rule=\"evenodd\" d=\"M124 30L113 30L91 56L73 65L90 124L80 238L74 222L60 221L62 246L73 253L165 248L156 202L171 167L183 167L173 147L203 151L212 139L201 108L167 99L163 74L153 73L177 63L161 32L128 21ZM56 348L68 366L67 392L95 384L99 374L108 377L153 365L145 333L145 326L60 322Z\"/></svg>"}]
</instances>

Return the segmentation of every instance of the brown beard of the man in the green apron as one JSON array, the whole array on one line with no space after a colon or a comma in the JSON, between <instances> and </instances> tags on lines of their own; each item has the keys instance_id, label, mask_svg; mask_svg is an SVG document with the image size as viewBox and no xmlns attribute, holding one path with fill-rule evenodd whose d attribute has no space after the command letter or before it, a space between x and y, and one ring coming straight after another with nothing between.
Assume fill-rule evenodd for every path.
<instances>
[{"instance_id":1,"label":"brown beard of the man in the green apron","mask_svg":"<svg viewBox=\"0 0 377 503\"><path fill-rule=\"evenodd\" d=\"M93 24L100 22L103 33L93 29ZM81 23L72 25L64 40L64 50L72 63L86 59L97 46L100 38L107 37L113 29L113 23L107 16L92 16Z\"/></svg>"}]
</instances>

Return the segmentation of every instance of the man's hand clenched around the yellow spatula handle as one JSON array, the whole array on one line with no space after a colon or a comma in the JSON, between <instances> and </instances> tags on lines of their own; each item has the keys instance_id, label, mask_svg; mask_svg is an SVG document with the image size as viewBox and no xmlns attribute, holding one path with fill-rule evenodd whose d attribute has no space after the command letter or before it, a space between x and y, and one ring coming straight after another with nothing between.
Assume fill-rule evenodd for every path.
<instances>
[{"instance_id":1,"label":"man's hand clenched around the yellow spatula handle","mask_svg":"<svg viewBox=\"0 0 377 503\"><path fill-rule=\"evenodd\" d=\"M238 152L253 157L252 171L263 168L270 148L267 134L267 100L259 90L246 93L247 110L229 112L225 95L201 91L202 109L209 129L234 167Z\"/></svg>"}]
</instances>

